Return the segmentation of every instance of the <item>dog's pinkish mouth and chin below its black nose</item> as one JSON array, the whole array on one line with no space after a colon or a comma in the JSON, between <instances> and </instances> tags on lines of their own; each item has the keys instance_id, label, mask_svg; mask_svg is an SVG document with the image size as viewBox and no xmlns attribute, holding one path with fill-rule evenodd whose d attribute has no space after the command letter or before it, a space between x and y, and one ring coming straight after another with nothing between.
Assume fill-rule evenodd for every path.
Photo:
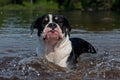
<instances>
[{"instance_id":1,"label":"dog's pinkish mouth and chin below its black nose","mask_svg":"<svg viewBox=\"0 0 120 80\"><path fill-rule=\"evenodd\" d=\"M58 28L54 30L51 28L46 28L43 39L45 43L55 45L62 39L62 33Z\"/></svg>"}]
</instances>

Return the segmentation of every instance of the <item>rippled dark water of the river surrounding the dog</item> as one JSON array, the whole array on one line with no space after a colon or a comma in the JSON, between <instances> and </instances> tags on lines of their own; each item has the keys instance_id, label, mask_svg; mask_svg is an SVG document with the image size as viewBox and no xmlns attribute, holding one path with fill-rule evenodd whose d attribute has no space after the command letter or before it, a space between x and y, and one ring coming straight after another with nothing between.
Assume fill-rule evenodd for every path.
<instances>
[{"instance_id":1,"label":"rippled dark water of the river surrounding the dog","mask_svg":"<svg viewBox=\"0 0 120 80\"><path fill-rule=\"evenodd\" d=\"M60 68L36 57L36 31L29 27L45 13L65 15L71 37L92 43L97 54L83 54L76 70ZM57 12L0 10L0 80L120 80L120 14L115 12Z\"/></svg>"}]
</instances>

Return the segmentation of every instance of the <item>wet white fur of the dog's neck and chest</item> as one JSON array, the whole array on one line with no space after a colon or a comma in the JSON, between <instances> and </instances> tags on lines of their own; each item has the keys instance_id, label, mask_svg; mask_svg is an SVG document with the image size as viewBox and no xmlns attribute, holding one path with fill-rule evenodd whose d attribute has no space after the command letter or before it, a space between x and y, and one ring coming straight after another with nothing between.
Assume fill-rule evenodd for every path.
<instances>
[{"instance_id":1,"label":"wet white fur of the dog's neck and chest","mask_svg":"<svg viewBox=\"0 0 120 80\"><path fill-rule=\"evenodd\" d=\"M48 61L58 64L62 67L67 67L66 62L71 50L71 41L67 35L54 46L48 44L45 45L45 58Z\"/></svg>"}]
</instances>

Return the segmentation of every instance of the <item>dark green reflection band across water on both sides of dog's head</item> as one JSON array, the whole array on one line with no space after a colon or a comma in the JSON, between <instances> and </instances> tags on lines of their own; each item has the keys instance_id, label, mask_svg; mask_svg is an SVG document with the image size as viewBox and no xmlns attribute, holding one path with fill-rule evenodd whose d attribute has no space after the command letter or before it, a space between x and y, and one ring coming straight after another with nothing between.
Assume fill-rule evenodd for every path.
<instances>
[{"instance_id":1,"label":"dark green reflection band across water on both sides of dog's head","mask_svg":"<svg viewBox=\"0 0 120 80\"><path fill-rule=\"evenodd\" d=\"M29 27L29 24L46 13L63 14L71 22L74 28L106 31L120 28L120 15L117 12L52 12L52 11L0 11L0 27L12 25L13 27Z\"/></svg>"}]
</instances>

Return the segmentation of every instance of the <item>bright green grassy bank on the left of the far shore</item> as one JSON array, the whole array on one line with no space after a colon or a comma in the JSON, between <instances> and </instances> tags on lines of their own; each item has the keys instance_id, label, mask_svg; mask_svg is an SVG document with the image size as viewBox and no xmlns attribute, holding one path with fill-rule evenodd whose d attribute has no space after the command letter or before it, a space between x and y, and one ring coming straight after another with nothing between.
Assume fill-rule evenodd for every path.
<instances>
[{"instance_id":1,"label":"bright green grassy bank on the left of the far shore","mask_svg":"<svg viewBox=\"0 0 120 80\"><path fill-rule=\"evenodd\" d=\"M8 4L5 6L0 7L0 9L5 9L5 10L23 10L23 9L53 9L53 10L58 10L57 3L50 1L42 1L38 2L36 4L31 4L29 2L24 2L23 5L18 5L18 4Z\"/></svg>"}]
</instances>

